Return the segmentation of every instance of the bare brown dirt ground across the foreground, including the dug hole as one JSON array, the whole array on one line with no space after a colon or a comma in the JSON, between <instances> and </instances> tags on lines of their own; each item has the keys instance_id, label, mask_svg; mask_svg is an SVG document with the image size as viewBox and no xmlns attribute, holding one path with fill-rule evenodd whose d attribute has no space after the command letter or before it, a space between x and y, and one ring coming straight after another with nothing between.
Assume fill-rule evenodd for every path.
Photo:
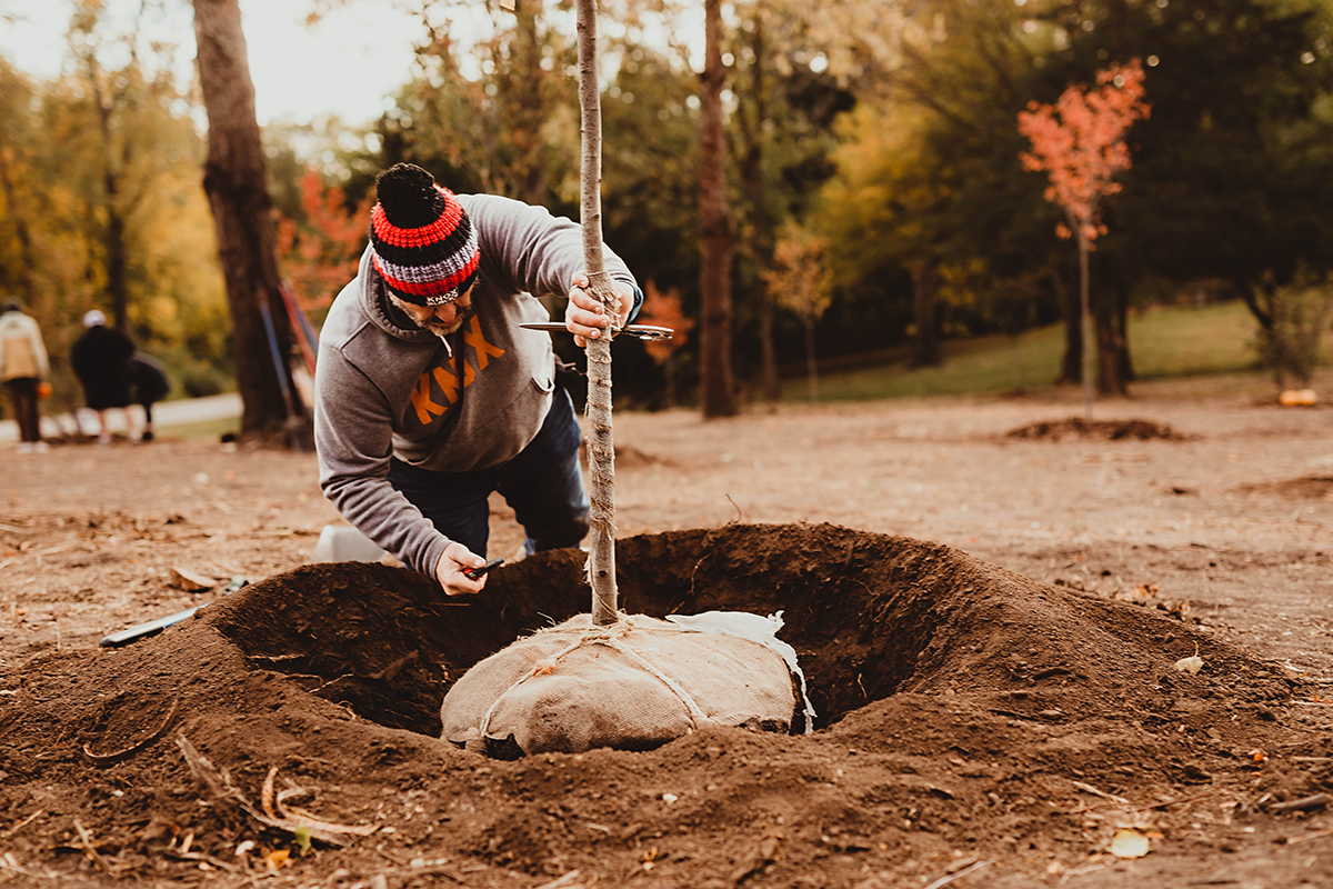
<instances>
[{"instance_id":1,"label":"bare brown dirt ground across the foreground, including the dug hole","mask_svg":"<svg viewBox=\"0 0 1333 889\"><path fill-rule=\"evenodd\" d=\"M460 604L303 566L337 521L312 456L3 450L0 885L1333 885L1333 409L1077 413L617 416L623 606L784 609L817 730L512 762L436 740L439 701L587 610L579 553ZM496 504L492 554L519 540Z\"/></svg>"}]
</instances>

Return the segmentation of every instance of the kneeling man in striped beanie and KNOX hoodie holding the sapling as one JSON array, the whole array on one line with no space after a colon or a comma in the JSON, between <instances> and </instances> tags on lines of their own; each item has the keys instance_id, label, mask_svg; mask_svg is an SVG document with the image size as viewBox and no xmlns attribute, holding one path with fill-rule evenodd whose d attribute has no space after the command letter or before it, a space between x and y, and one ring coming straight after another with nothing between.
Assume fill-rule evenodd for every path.
<instances>
[{"instance_id":1,"label":"kneeling man in striped beanie and KNOX hoodie holding the sapling","mask_svg":"<svg viewBox=\"0 0 1333 889\"><path fill-rule=\"evenodd\" d=\"M575 343L609 336L612 319L583 288L579 225L540 207L455 195L397 164L376 180L371 243L356 280L320 332L315 446L320 486L361 533L449 596L485 577L488 497L499 490L528 552L588 533L581 433L556 385L551 337L535 299L568 295ZM609 249L617 327L641 295Z\"/></svg>"}]
</instances>

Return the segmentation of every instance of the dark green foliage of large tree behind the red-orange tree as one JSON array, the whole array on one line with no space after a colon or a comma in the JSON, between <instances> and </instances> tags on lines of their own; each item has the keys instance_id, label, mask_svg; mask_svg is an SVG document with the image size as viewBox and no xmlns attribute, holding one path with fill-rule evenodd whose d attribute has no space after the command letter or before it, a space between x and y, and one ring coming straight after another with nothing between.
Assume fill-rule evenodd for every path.
<instances>
[{"instance_id":1,"label":"dark green foliage of large tree behind the red-orange tree","mask_svg":"<svg viewBox=\"0 0 1333 889\"><path fill-rule=\"evenodd\" d=\"M1152 79L1153 116L1097 243L1100 311L1121 332L1161 281L1221 280L1253 309L1269 276L1333 268L1329 4L1032 0L1021 15L1049 37L1025 77L1037 97L1109 59L1142 59Z\"/></svg>"}]
</instances>

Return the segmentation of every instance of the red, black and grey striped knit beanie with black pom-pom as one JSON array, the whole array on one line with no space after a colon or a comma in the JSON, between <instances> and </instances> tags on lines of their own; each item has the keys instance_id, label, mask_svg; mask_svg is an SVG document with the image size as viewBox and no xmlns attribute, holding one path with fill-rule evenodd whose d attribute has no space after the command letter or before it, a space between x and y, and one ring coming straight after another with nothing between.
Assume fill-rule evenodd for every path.
<instances>
[{"instance_id":1,"label":"red, black and grey striped knit beanie with black pom-pom","mask_svg":"<svg viewBox=\"0 0 1333 889\"><path fill-rule=\"evenodd\" d=\"M477 277L477 233L459 199L416 164L395 164L375 180L371 211L375 268L399 299L444 305Z\"/></svg>"}]
</instances>

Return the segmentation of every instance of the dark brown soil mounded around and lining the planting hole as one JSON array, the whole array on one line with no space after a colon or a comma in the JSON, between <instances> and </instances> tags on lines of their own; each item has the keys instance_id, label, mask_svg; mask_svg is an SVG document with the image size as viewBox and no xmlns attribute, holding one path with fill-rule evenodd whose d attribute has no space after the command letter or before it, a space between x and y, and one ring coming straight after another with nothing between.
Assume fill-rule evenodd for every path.
<instances>
[{"instance_id":1,"label":"dark brown soil mounded around and lining the planting hole","mask_svg":"<svg viewBox=\"0 0 1333 889\"><path fill-rule=\"evenodd\" d=\"M1229 793L1256 777L1274 800L1318 789L1254 772L1294 681L1156 610L829 525L631 537L617 564L627 612L782 610L816 733L484 760L436 740L440 700L477 660L587 609L583 553L507 565L475 600L404 569L311 565L124 649L0 677L0 810L40 813L7 845L59 885L192 884L200 868L240 885L296 845L253 813L277 769L307 810L377 828L293 854L292 878L873 888L992 858L988 877L1045 874L1132 821L1178 837L1236 816ZM1173 669L1196 649L1202 672ZM251 814L196 778L183 741Z\"/></svg>"}]
</instances>

